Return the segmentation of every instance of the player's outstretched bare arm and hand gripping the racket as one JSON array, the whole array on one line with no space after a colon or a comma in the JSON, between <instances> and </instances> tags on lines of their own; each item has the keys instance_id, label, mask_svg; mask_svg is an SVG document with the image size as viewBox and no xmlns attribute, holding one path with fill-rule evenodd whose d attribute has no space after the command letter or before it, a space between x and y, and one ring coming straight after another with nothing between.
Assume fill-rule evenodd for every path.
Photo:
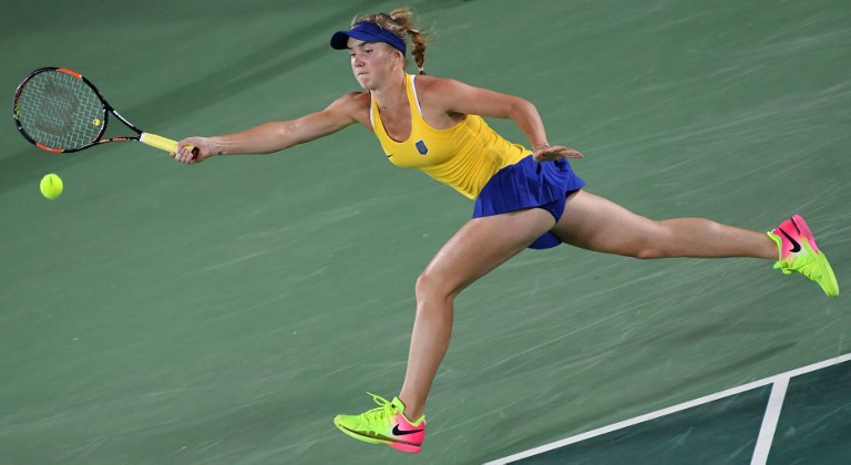
<instances>
[{"instance_id":1,"label":"player's outstretched bare arm and hand gripping the racket","mask_svg":"<svg viewBox=\"0 0 851 465\"><path fill-rule=\"evenodd\" d=\"M171 155L181 163L198 163L213 155L279 152L358 123L362 108L362 95L352 92L337 99L322 111L296 120L269 122L250 130L213 137L186 137L177 143L182 148ZM196 154L184 148L187 146L195 147Z\"/></svg>"}]
</instances>

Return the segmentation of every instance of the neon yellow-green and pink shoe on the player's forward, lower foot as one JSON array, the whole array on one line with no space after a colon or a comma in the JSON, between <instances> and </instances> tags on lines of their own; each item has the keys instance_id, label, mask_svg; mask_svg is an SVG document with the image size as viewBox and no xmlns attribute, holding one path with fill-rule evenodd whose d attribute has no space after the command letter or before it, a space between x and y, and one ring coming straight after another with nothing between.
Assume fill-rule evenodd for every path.
<instances>
[{"instance_id":1,"label":"neon yellow-green and pink shoe on the player's forward, lower foot","mask_svg":"<svg viewBox=\"0 0 851 465\"><path fill-rule=\"evenodd\" d=\"M417 454L426 438L426 415L416 422L404 416L404 404L399 397L392 401L367 393L379 405L360 415L337 415L334 424L349 436L370 444L387 444L390 447Z\"/></svg>"}]
</instances>

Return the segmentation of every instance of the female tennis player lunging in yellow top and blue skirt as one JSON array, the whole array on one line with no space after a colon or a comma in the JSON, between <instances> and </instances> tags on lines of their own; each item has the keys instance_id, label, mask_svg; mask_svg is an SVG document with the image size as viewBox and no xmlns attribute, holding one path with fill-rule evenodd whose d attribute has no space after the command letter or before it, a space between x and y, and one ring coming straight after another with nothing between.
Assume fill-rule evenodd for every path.
<instances>
[{"instance_id":1,"label":"female tennis player lunging in yellow top and blue skirt","mask_svg":"<svg viewBox=\"0 0 851 465\"><path fill-rule=\"evenodd\" d=\"M406 73L408 38L420 75ZM372 394L378 409L339 415L344 433L396 450L420 452L426 399L452 332L453 300L468 286L525 248L568 244L636 258L755 257L800 272L828 296L839 286L800 216L769 232L700 218L650 220L583 189L567 158L582 154L551 144L535 106L502 93L423 73L426 38L411 12L400 9L357 18L331 37L348 50L363 89L322 111L229 135L188 137L172 154L197 163L213 155L273 153L336 133L352 124L372 131L389 161L419 168L474 199L473 218L434 256L417 280L417 313L408 369L392 401ZM513 144L482 117L509 118L527 138ZM531 147L531 148L526 148Z\"/></svg>"}]
</instances>

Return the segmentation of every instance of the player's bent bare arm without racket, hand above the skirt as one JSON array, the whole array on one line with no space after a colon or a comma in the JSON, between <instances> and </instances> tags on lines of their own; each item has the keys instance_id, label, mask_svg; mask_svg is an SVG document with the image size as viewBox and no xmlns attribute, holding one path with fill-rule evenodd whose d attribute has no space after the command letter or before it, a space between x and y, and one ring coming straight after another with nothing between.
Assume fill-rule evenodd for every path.
<instances>
[{"instance_id":1,"label":"player's bent bare arm without racket, hand above the skirt","mask_svg":"<svg viewBox=\"0 0 851 465\"><path fill-rule=\"evenodd\" d=\"M449 114L473 114L513 121L526 136L531 147L537 147L534 155L539 162L582 157L577 151L563 146L550 146L541 114L535 105L525 99L476 87L457 80L432 78L429 85L429 101L435 102Z\"/></svg>"}]
</instances>

